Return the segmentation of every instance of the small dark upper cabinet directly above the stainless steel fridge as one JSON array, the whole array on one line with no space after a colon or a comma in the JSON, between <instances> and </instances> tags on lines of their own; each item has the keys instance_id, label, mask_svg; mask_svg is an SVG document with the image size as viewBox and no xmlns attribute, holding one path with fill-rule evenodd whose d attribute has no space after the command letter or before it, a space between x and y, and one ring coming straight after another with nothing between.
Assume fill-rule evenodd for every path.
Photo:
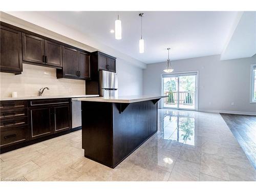
<instances>
[{"instance_id":1,"label":"small dark upper cabinet directly above the stainless steel fridge","mask_svg":"<svg viewBox=\"0 0 256 192\"><path fill-rule=\"evenodd\" d=\"M116 57L107 55L100 51L91 53L92 80L98 79L98 71L105 70L116 72Z\"/></svg>"}]
</instances>

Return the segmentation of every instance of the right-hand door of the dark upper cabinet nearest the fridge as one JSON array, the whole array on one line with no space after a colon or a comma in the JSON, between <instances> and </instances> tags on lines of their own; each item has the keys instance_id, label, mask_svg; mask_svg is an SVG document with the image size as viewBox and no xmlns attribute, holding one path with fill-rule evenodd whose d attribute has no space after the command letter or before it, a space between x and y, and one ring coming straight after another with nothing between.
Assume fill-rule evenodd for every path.
<instances>
[{"instance_id":1,"label":"right-hand door of the dark upper cabinet nearest the fridge","mask_svg":"<svg viewBox=\"0 0 256 192\"><path fill-rule=\"evenodd\" d=\"M79 78L90 79L91 76L91 64L90 56L87 53L78 52L78 66L79 66Z\"/></svg>"}]
</instances>

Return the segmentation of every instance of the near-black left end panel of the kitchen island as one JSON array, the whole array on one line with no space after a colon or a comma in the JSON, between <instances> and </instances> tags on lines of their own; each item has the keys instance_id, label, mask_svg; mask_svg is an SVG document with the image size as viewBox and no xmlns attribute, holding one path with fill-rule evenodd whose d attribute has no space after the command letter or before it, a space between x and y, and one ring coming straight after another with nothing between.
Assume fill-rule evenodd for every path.
<instances>
[{"instance_id":1,"label":"near-black left end panel of the kitchen island","mask_svg":"<svg viewBox=\"0 0 256 192\"><path fill-rule=\"evenodd\" d=\"M82 101L82 147L84 156L113 165L113 103Z\"/></svg>"}]
</instances>

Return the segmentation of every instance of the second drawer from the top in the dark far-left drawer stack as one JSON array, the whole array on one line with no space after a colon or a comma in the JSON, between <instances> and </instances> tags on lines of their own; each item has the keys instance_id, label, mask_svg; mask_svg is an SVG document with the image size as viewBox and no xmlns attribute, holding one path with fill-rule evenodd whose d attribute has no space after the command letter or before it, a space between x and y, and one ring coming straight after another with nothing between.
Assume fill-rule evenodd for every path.
<instances>
[{"instance_id":1,"label":"second drawer from the top in the dark far-left drawer stack","mask_svg":"<svg viewBox=\"0 0 256 192\"><path fill-rule=\"evenodd\" d=\"M9 109L9 110L1 110L0 111L0 119L8 119L8 118L18 118L25 117L28 115L28 110L26 108L21 109Z\"/></svg>"}]
</instances>

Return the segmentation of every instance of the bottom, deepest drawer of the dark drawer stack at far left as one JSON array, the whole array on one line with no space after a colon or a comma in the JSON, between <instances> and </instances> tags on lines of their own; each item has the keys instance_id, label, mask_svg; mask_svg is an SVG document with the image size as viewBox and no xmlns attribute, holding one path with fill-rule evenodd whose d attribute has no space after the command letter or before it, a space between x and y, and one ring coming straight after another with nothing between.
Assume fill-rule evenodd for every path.
<instances>
[{"instance_id":1,"label":"bottom, deepest drawer of the dark drawer stack at far left","mask_svg":"<svg viewBox=\"0 0 256 192\"><path fill-rule=\"evenodd\" d=\"M1 146L16 144L27 140L27 126L12 127L1 131Z\"/></svg>"}]
</instances>

